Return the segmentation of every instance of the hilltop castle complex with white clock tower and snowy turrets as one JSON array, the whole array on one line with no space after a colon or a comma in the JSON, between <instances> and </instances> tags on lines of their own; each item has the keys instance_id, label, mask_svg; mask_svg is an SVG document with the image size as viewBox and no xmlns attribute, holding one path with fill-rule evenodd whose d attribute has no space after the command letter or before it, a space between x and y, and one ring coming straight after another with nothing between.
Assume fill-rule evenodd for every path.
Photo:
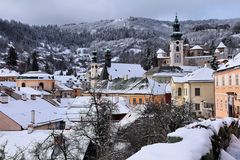
<instances>
[{"instance_id":1,"label":"hilltop castle complex with white clock tower and snowy turrets","mask_svg":"<svg viewBox=\"0 0 240 160\"><path fill-rule=\"evenodd\" d=\"M223 42L218 45L214 54L212 54L210 53L210 46L207 43L203 45L190 45L188 42L184 42L182 35L180 23L176 16L169 44L169 56L165 51L159 49L157 51L158 66L204 66L212 60L213 55L218 59L228 58L228 48Z\"/></svg>"}]
</instances>

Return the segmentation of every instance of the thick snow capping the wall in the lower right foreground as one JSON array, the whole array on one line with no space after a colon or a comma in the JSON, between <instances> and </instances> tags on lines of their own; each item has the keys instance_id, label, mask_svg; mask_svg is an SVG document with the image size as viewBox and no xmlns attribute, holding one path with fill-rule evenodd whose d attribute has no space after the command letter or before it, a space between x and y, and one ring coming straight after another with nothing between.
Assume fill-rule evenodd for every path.
<instances>
[{"instance_id":1,"label":"thick snow capping the wall in the lower right foreground","mask_svg":"<svg viewBox=\"0 0 240 160\"><path fill-rule=\"evenodd\" d=\"M168 134L168 137L181 137L183 138L181 141L144 146L140 151L128 158L128 160L199 160L202 156L210 152L212 148L211 136L214 132L218 133L220 127L224 125L229 126L234 120L237 119L206 120L179 128L175 132ZM200 128L198 125L209 129ZM236 152L236 149L238 149L238 152ZM239 149L240 141L232 137L231 145L228 148L228 152L232 153L232 155L221 151L221 156L223 157L221 160L239 160L238 158L232 158L239 156Z\"/></svg>"}]
</instances>

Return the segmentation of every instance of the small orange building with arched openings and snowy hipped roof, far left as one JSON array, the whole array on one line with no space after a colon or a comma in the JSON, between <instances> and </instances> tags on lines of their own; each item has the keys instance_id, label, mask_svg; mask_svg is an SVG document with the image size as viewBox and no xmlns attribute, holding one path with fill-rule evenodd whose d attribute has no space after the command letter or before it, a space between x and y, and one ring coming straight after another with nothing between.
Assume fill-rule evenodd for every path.
<instances>
[{"instance_id":1,"label":"small orange building with arched openings and snowy hipped roof, far left","mask_svg":"<svg viewBox=\"0 0 240 160\"><path fill-rule=\"evenodd\" d=\"M29 71L17 77L17 87L32 87L37 90L52 91L55 88L54 76L42 71Z\"/></svg>"}]
</instances>

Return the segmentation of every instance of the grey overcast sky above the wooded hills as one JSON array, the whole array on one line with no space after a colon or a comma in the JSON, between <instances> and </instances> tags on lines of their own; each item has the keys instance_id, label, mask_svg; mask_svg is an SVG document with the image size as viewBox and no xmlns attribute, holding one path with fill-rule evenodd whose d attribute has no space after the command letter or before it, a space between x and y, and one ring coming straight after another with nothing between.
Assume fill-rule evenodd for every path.
<instances>
[{"instance_id":1,"label":"grey overcast sky above the wooded hills","mask_svg":"<svg viewBox=\"0 0 240 160\"><path fill-rule=\"evenodd\" d=\"M66 24L149 17L173 20L240 17L240 0L0 0L0 18L28 24Z\"/></svg>"}]
</instances>

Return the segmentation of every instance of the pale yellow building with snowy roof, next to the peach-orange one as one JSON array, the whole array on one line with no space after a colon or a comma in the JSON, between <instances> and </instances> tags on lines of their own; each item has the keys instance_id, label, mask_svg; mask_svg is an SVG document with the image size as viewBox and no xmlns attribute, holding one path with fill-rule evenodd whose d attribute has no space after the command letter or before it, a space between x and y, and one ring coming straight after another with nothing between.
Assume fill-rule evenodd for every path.
<instances>
[{"instance_id":1,"label":"pale yellow building with snowy roof, next to the peach-orange one","mask_svg":"<svg viewBox=\"0 0 240 160\"><path fill-rule=\"evenodd\" d=\"M173 77L171 81L172 102L180 106L188 102L199 117L212 117L214 109L213 70L200 68L184 77Z\"/></svg>"}]
</instances>

